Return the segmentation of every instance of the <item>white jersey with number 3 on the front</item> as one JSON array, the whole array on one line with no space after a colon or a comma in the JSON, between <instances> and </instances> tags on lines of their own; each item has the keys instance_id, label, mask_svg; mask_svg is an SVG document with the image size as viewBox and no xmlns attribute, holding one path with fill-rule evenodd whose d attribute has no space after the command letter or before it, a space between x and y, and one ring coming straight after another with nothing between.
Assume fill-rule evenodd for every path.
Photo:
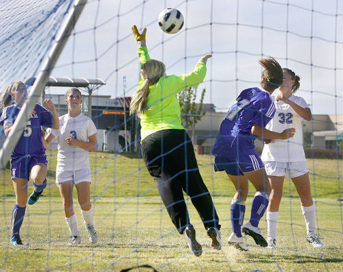
<instances>
[{"instance_id":1,"label":"white jersey with number 3 on the front","mask_svg":"<svg viewBox=\"0 0 343 272\"><path fill-rule=\"evenodd\" d=\"M58 143L57 167L58 171L76 171L91 169L88 151L76 146L69 146L66 138L73 137L89 142L88 137L97 134L92 119L83 114L70 117L68 114L60 116L60 142Z\"/></svg>"}]
</instances>

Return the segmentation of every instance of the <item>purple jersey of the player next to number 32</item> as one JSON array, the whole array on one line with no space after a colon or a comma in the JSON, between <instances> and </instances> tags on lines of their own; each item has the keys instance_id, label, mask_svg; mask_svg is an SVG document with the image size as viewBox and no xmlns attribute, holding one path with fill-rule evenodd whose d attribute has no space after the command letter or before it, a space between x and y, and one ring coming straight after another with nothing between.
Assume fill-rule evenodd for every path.
<instances>
[{"instance_id":1,"label":"purple jersey of the player next to number 32","mask_svg":"<svg viewBox=\"0 0 343 272\"><path fill-rule=\"evenodd\" d=\"M259 87L243 90L222 121L211 154L232 158L255 153L257 136L251 127L254 123L265 127L274 112L269 92Z\"/></svg>"}]
</instances>

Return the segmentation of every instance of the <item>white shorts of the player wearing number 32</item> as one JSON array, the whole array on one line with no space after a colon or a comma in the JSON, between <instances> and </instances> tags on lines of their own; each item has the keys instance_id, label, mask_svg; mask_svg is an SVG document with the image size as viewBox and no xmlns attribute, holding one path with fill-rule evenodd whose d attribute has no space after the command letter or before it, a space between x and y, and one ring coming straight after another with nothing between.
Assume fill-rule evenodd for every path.
<instances>
[{"instance_id":1,"label":"white shorts of the player wearing number 32","mask_svg":"<svg viewBox=\"0 0 343 272\"><path fill-rule=\"evenodd\" d=\"M309 173L306 162L264 162L267 175L276 177L300 177Z\"/></svg>"}]
</instances>

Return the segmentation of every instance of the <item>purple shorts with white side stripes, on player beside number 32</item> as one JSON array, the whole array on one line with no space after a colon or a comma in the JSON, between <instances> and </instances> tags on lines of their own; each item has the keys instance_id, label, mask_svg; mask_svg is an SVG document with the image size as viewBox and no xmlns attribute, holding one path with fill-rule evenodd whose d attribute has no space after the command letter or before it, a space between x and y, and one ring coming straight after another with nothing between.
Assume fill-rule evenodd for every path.
<instances>
[{"instance_id":1,"label":"purple shorts with white side stripes, on player beside number 32","mask_svg":"<svg viewBox=\"0 0 343 272\"><path fill-rule=\"evenodd\" d=\"M225 171L229 175L244 175L244 173L257 171L263 167L263 162L257 153L233 158L216 156L214 165L215 172Z\"/></svg>"}]
</instances>

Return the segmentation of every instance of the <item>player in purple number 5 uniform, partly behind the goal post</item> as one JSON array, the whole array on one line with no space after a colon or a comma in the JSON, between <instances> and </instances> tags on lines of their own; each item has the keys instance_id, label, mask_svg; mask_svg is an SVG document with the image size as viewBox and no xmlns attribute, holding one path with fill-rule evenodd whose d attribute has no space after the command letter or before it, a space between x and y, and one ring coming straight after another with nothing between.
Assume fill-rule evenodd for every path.
<instances>
[{"instance_id":1,"label":"player in purple number 5 uniform, partly behind the goal post","mask_svg":"<svg viewBox=\"0 0 343 272\"><path fill-rule=\"evenodd\" d=\"M1 118L5 136L10 134L12 125L25 101L27 87L23 82L13 82L1 94ZM11 102L12 105L8 106ZM58 129L59 121L54 103L50 99L44 101L47 109L36 104L34 111L26 122L23 136L19 139L11 156L11 175L16 193L16 204L12 211L12 245L23 245L19 235L25 216L27 202L27 182L29 177L34 184L34 192L29 197L29 204L36 203L44 188L47 186L47 156L42 143L41 126Z\"/></svg>"}]
</instances>

